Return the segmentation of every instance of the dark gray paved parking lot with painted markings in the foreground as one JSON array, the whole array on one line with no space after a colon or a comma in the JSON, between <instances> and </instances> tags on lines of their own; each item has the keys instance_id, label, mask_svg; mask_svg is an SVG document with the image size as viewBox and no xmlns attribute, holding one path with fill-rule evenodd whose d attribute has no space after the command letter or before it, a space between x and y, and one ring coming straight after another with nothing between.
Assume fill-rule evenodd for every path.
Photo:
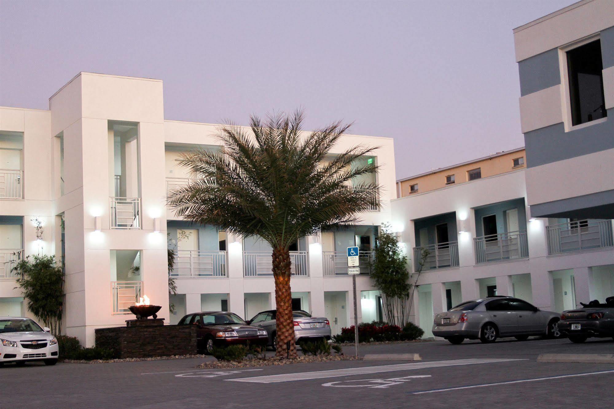
<instances>
[{"instance_id":1,"label":"dark gray paved parking lot with painted markings in the foreground","mask_svg":"<svg viewBox=\"0 0 614 409\"><path fill-rule=\"evenodd\" d=\"M353 347L345 349L353 353ZM611 407L614 364L537 362L542 353L612 354L610 339L425 341L361 346L360 353L419 353L421 361L337 361L196 370L203 359L6 365L2 406L18 407Z\"/></svg>"}]
</instances>

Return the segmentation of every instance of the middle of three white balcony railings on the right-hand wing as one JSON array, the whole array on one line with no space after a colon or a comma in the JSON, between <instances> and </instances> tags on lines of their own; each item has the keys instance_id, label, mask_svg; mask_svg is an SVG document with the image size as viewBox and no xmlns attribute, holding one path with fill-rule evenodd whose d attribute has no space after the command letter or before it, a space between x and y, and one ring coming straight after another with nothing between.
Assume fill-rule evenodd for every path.
<instances>
[{"instance_id":1,"label":"middle of three white balcony railings on the right-hand wing","mask_svg":"<svg viewBox=\"0 0 614 409\"><path fill-rule=\"evenodd\" d=\"M476 264L529 257L527 232L499 233L476 237L473 241Z\"/></svg>"}]
</instances>

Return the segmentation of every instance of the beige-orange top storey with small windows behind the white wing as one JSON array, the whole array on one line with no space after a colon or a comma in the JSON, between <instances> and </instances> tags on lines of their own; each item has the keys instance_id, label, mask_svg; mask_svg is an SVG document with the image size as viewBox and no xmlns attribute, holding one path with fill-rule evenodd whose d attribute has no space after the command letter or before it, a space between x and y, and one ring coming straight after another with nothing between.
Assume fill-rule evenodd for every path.
<instances>
[{"instance_id":1,"label":"beige-orange top storey with small windows behind the white wing","mask_svg":"<svg viewBox=\"0 0 614 409\"><path fill-rule=\"evenodd\" d=\"M524 147L498 152L483 158L439 168L397 181L397 198L424 193L483 177L524 168Z\"/></svg>"}]
</instances>

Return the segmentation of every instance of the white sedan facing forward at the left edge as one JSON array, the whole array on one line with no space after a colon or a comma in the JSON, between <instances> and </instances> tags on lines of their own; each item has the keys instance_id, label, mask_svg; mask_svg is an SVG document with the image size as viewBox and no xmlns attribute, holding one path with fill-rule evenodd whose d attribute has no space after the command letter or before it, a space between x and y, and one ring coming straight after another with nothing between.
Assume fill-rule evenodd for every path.
<instances>
[{"instance_id":1,"label":"white sedan facing forward at the left edge","mask_svg":"<svg viewBox=\"0 0 614 409\"><path fill-rule=\"evenodd\" d=\"M41 328L25 317L0 317L0 366L34 360L42 360L45 365L58 362L58 340L49 328Z\"/></svg>"}]
</instances>

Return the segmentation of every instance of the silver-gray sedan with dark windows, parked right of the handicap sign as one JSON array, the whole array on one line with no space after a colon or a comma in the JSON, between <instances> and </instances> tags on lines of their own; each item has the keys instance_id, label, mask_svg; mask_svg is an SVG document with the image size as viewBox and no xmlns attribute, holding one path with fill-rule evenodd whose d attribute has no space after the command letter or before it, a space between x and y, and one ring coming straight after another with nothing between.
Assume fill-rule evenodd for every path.
<instances>
[{"instance_id":1,"label":"silver-gray sedan with dark windows, parked right of the handicap sign","mask_svg":"<svg viewBox=\"0 0 614 409\"><path fill-rule=\"evenodd\" d=\"M433 335L453 344L465 338L491 343L502 337L524 341L531 335L561 337L558 313L542 311L513 297L487 297L461 303L435 314Z\"/></svg>"}]
</instances>

